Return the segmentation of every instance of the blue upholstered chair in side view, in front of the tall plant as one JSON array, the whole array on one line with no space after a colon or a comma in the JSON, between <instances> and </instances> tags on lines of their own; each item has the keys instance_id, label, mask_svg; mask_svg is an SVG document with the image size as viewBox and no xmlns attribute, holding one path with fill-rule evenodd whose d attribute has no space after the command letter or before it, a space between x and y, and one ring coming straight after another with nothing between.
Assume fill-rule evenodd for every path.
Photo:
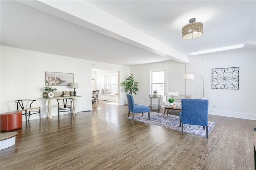
<instances>
[{"instance_id":1,"label":"blue upholstered chair in side view, in front of the tall plant","mask_svg":"<svg viewBox=\"0 0 256 170\"><path fill-rule=\"evenodd\" d=\"M134 113L143 113L148 112L148 120L150 120L150 108L148 106L144 105L139 105L139 104L134 104L134 99L133 96L130 94L126 94L127 99L128 99L128 117L130 115L130 111L132 112L132 120L134 119Z\"/></svg>"}]
</instances>

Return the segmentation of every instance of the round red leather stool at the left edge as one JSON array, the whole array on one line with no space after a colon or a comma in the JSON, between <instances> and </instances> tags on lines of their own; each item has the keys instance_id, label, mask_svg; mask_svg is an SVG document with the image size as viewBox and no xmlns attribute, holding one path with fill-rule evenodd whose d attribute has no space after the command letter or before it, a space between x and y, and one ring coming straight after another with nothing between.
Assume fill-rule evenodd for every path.
<instances>
[{"instance_id":1,"label":"round red leather stool at the left edge","mask_svg":"<svg viewBox=\"0 0 256 170\"><path fill-rule=\"evenodd\" d=\"M2 113L1 118L1 131L12 131L22 127L22 112L21 111L10 111Z\"/></svg>"}]
</instances>

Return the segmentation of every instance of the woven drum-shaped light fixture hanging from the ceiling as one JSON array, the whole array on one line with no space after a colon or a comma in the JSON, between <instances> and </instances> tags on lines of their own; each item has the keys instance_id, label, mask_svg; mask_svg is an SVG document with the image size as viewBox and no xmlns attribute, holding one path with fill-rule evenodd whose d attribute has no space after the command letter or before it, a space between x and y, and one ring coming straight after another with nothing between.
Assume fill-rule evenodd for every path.
<instances>
[{"instance_id":1,"label":"woven drum-shaped light fixture hanging from the ceiling","mask_svg":"<svg viewBox=\"0 0 256 170\"><path fill-rule=\"evenodd\" d=\"M189 20L189 24L182 28L183 39L194 39L203 35L203 23L196 22L196 18Z\"/></svg>"}]
</instances>

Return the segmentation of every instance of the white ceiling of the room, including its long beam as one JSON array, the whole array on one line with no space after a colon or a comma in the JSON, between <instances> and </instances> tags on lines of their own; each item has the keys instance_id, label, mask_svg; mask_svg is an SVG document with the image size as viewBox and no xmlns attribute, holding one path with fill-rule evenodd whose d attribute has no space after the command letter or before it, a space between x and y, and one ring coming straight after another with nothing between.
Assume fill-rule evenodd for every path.
<instances>
[{"instance_id":1,"label":"white ceiling of the room, including its long beam","mask_svg":"<svg viewBox=\"0 0 256 170\"><path fill-rule=\"evenodd\" d=\"M204 35L184 40L191 18ZM1 1L1 45L44 53L131 66L189 63L191 52L242 43L255 50L255 0Z\"/></svg>"}]
</instances>

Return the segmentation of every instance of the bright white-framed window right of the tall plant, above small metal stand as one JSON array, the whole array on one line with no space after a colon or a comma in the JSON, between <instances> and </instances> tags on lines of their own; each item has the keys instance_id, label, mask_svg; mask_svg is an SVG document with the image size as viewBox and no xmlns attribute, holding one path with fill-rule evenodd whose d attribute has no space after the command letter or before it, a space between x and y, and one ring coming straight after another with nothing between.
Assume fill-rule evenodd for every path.
<instances>
[{"instance_id":1,"label":"bright white-framed window right of the tall plant, above small metal stand","mask_svg":"<svg viewBox=\"0 0 256 170\"><path fill-rule=\"evenodd\" d=\"M164 96L164 70L151 71L150 77L150 94L152 94L154 90L157 90L158 95Z\"/></svg>"}]
</instances>

